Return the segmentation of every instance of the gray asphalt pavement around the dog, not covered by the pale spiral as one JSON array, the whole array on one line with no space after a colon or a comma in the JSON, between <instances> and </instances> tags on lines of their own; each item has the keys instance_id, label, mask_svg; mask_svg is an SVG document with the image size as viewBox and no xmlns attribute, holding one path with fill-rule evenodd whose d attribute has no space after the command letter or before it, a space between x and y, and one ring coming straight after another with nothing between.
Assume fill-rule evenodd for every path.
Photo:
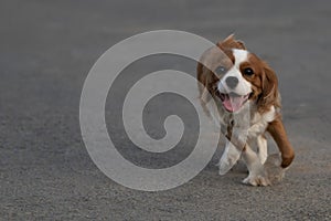
<instances>
[{"instance_id":1,"label":"gray asphalt pavement around the dog, not covered by the pale spiral","mask_svg":"<svg viewBox=\"0 0 331 221\"><path fill-rule=\"evenodd\" d=\"M0 220L331 220L330 22L331 2L321 0L0 1ZM108 48L158 29L213 42L234 32L276 70L297 152L281 183L244 186L241 165L218 176L222 148L197 177L168 191L131 190L97 169L79 131L84 80ZM194 63L173 56L143 60L126 72L169 65L194 74ZM120 87L131 81L125 76ZM120 103L116 93L106 118L128 159L158 168L190 152L193 135L164 157L135 149L109 114ZM152 124L157 113L148 128L161 136Z\"/></svg>"}]
</instances>

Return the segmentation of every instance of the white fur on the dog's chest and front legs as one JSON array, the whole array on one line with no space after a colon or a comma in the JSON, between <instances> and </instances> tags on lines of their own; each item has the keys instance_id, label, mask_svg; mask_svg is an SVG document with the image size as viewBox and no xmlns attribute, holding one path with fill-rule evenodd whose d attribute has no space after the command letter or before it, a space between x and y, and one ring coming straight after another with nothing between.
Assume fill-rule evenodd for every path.
<instances>
[{"instance_id":1,"label":"white fur on the dog's chest and front legs","mask_svg":"<svg viewBox=\"0 0 331 221\"><path fill-rule=\"evenodd\" d=\"M253 186L257 186L257 185L267 186L269 185L269 180L266 177L263 165L267 159L268 152L267 152L267 140L263 135L268 126L268 123L275 119L276 109L273 106L270 110L260 115L258 112L256 112L256 107L250 106L249 108L249 105L252 104L250 103L245 104L242 110L235 115L237 125L234 125L233 127L233 133L237 133L234 136L244 137L243 139L247 138L245 151L242 151L241 148L235 147L231 141L227 140L225 150L218 162L220 175L225 175L235 165L235 162L239 159L242 155L244 162L247 166L249 172L248 177L244 179L243 182ZM249 120L250 123L248 123L249 127L245 129L245 125L247 125L247 118L249 119L249 117L247 117L247 113L249 114L249 112L256 112L256 113L250 118ZM232 117L229 116L228 118ZM226 125L223 126L226 127ZM250 146L255 144L258 147L258 155L255 151L253 151L250 148Z\"/></svg>"}]
</instances>

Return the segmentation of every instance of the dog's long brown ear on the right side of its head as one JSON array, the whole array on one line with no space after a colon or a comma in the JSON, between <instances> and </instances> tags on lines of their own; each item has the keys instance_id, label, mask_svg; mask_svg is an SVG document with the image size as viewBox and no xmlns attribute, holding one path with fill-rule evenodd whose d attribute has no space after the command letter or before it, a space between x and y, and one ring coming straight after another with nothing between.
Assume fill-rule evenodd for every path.
<instances>
[{"instance_id":1,"label":"dog's long brown ear on the right side of its head","mask_svg":"<svg viewBox=\"0 0 331 221\"><path fill-rule=\"evenodd\" d=\"M258 98L259 108L267 109L271 105L280 106L278 98L278 80L268 64L264 64L261 75L261 94Z\"/></svg>"}]
</instances>

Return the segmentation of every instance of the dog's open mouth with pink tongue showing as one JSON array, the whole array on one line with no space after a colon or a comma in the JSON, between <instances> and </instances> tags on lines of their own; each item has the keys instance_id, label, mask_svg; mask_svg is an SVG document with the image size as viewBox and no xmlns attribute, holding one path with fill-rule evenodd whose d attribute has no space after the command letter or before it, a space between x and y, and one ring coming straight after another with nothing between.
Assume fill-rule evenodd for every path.
<instances>
[{"instance_id":1,"label":"dog's open mouth with pink tongue showing","mask_svg":"<svg viewBox=\"0 0 331 221\"><path fill-rule=\"evenodd\" d=\"M237 112L247 102L249 94L238 95L233 92L228 94L218 93L218 97L221 98L222 104L227 112Z\"/></svg>"}]
</instances>

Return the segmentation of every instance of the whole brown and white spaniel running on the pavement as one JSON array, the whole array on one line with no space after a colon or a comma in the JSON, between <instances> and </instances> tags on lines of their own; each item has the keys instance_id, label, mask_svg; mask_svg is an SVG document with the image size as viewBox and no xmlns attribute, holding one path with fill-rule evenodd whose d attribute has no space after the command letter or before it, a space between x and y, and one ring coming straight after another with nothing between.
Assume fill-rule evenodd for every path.
<instances>
[{"instance_id":1,"label":"whole brown and white spaniel running on the pavement","mask_svg":"<svg viewBox=\"0 0 331 221\"><path fill-rule=\"evenodd\" d=\"M196 72L201 105L226 137L220 175L242 157L248 169L244 183L269 186L281 179L295 151L281 120L275 71L232 34L202 54ZM268 157L267 133L278 146L276 156Z\"/></svg>"}]
</instances>

